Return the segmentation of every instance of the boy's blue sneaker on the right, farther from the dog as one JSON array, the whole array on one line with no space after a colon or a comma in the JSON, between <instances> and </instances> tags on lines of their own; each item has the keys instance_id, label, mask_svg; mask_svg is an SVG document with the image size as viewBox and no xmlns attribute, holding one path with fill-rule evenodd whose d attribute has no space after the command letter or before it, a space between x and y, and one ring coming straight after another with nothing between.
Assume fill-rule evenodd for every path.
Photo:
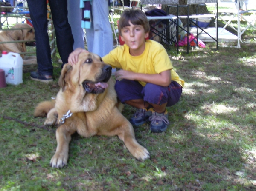
<instances>
[{"instance_id":1,"label":"boy's blue sneaker on the right, farther from the dog","mask_svg":"<svg viewBox=\"0 0 256 191\"><path fill-rule=\"evenodd\" d=\"M149 117L150 130L153 133L162 133L166 131L169 123L168 120L168 111L166 110L164 113L152 112L151 117Z\"/></svg>"}]
</instances>

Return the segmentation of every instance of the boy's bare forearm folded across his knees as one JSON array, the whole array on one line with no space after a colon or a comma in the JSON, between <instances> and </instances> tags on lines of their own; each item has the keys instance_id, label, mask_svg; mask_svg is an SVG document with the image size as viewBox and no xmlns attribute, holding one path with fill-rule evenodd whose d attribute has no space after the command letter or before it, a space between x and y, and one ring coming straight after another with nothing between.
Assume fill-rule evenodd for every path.
<instances>
[{"instance_id":1,"label":"boy's bare forearm folded across his knees","mask_svg":"<svg viewBox=\"0 0 256 191\"><path fill-rule=\"evenodd\" d=\"M160 74L141 74L126 70L116 71L116 80L122 79L153 83L159 86L169 86L171 83L171 71L162 71Z\"/></svg>"}]
</instances>

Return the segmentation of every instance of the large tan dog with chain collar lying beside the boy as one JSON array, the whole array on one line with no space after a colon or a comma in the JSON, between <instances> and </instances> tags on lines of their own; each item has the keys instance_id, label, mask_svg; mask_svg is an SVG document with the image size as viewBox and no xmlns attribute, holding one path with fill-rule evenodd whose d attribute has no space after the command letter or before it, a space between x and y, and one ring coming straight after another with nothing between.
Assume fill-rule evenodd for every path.
<instances>
[{"instance_id":1,"label":"large tan dog with chain collar lying beside the boy","mask_svg":"<svg viewBox=\"0 0 256 191\"><path fill-rule=\"evenodd\" d=\"M61 89L55 101L39 103L35 108L35 117L47 113L45 125L59 125L52 167L67 165L71 135L76 131L83 137L118 135L134 157L142 160L149 157L147 149L135 140L131 123L121 114L123 105L117 101L111 69L98 55L80 53L75 65L67 63L61 70L58 81Z\"/></svg>"}]
</instances>

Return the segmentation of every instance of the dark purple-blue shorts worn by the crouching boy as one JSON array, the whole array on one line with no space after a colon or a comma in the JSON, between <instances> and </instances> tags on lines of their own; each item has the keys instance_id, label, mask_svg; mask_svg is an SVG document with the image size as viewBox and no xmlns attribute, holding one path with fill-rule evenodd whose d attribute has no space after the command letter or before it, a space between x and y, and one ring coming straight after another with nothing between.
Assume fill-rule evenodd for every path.
<instances>
[{"instance_id":1,"label":"dark purple-blue shorts worn by the crouching boy","mask_svg":"<svg viewBox=\"0 0 256 191\"><path fill-rule=\"evenodd\" d=\"M172 106L180 100L182 86L176 81L172 81L169 86L158 86L147 83L144 87L133 80L116 81L115 85L118 99L125 103L128 100L143 99L145 102L166 106Z\"/></svg>"}]
</instances>

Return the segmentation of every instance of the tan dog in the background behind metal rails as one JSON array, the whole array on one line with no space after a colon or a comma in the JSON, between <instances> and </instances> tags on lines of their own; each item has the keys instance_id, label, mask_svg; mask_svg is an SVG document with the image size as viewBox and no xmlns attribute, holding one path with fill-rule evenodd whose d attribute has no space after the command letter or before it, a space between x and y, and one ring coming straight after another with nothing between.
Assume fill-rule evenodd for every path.
<instances>
[{"instance_id":1,"label":"tan dog in the background behind metal rails","mask_svg":"<svg viewBox=\"0 0 256 191\"><path fill-rule=\"evenodd\" d=\"M0 31L0 42L10 42L15 40L35 40L35 31L32 26L24 24L16 24L8 31ZM26 42L23 43L4 43L0 44L0 51L21 53L26 52ZM36 64L36 56L25 56L20 54L23 58L23 65Z\"/></svg>"}]
</instances>

